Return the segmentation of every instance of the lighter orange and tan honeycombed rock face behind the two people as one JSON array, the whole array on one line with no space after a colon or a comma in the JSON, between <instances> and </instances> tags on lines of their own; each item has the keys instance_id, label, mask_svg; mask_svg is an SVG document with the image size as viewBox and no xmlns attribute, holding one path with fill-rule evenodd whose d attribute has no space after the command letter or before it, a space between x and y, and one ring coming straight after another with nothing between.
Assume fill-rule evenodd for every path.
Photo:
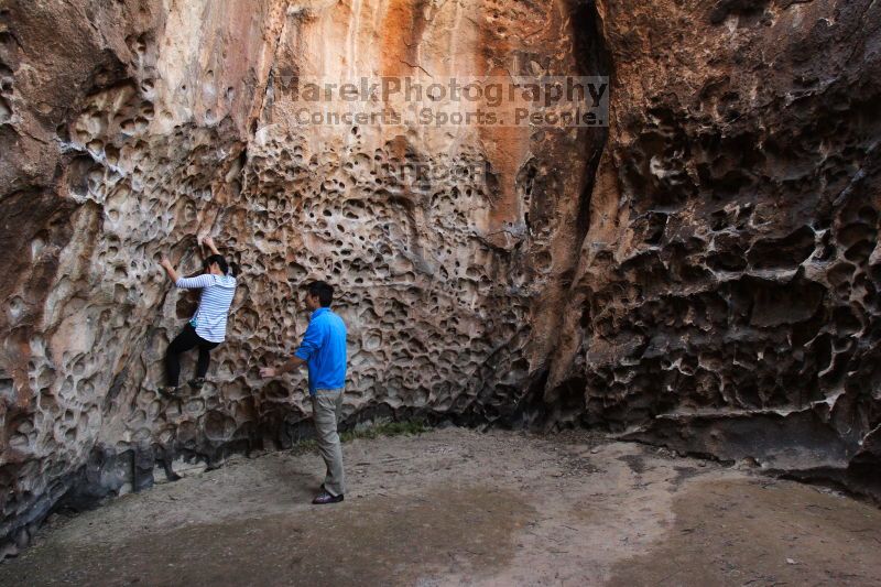
<instances>
[{"instance_id":1,"label":"lighter orange and tan honeycombed rock face behind the two people","mask_svg":"<svg viewBox=\"0 0 881 587\"><path fill-rule=\"evenodd\" d=\"M295 348L311 279L337 286L349 326L347 425L509 417L531 357L546 352L531 340L550 326L535 325L558 315L534 301L558 296L556 275L577 260L605 129L302 127L289 86L309 75L594 74L594 12L476 0L7 2L7 552L52 507L148 487L155 465L296 441L308 430L303 376L267 382L258 370ZM206 235L241 268L228 341L202 393L166 402L162 358L195 298L170 287L157 261L195 271Z\"/></svg>"}]
</instances>

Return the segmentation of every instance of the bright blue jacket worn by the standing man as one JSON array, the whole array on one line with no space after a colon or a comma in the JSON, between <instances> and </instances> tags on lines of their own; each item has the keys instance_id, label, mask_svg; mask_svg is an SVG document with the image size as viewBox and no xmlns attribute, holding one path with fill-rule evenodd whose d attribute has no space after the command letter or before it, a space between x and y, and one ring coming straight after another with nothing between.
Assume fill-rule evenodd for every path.
<instances>
[{"instance_id":1,"label":"bright blue jacket worn by the standing man","mask_svg":"<svg viewBox=\"0 0 881 587\"><path fill-rule=\"evenodd\" d=\"M294 352L309 369L309 395L318 389L341 389L346 384L346 324L319 307L309 316L303 343Z\"/></svg>"}]
</instances>

